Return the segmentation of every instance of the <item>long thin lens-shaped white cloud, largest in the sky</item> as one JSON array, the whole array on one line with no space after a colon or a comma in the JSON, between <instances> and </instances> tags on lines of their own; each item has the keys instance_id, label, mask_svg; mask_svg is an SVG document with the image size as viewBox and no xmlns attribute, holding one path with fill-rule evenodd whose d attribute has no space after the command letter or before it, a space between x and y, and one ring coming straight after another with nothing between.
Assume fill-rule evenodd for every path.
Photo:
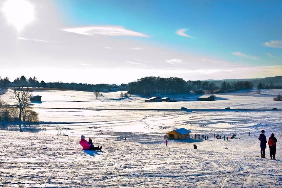
<instances>
[{"instance_id":1,"label":"long thin lens-shaped white cloud, largest in the sky","mask_svg":"<svg viewBox=\"0 0 282 188\"><path fill-rule=\"evenodd\" d=\"M146 34L125 29L122 26L89 26L89 27L76 27L76 28L65 28L62 31L68 31L72 33L78 33L89 36L135 36L135 37L150 37Z\"/></svg>"}]
</instances>

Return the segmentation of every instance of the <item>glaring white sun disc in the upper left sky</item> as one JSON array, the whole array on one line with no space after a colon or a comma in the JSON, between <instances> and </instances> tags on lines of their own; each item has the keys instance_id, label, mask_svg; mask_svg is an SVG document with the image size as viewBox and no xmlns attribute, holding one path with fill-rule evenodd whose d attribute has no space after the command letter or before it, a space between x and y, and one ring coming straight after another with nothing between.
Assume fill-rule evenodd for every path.
<instances>
[{"instance_id":1,"label":"glaring white sun disc in the upper left sky","mask_svg":"<svg viewBox=\"0 0 282 188\"><path fill-rule=\"evenodd\" d=\"M34 19L33 6L25 0L8 0L4 4L3 11L9 23L18 31Z\"/></svg>"}]
</instances>

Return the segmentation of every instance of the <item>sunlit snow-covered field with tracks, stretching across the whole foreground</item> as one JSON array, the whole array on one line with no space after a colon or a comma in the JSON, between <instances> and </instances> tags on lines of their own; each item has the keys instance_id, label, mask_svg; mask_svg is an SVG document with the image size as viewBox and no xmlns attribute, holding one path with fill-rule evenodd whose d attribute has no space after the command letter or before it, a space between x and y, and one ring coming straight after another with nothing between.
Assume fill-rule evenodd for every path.
<instances>
[{"instance_id":1,"label":"sunlit snow-covered field with tracks, stretching across the whole foreground","mask_svg":"<svg viewBox=\"0 0 282 188\"><path fill-rule=\"evenodd\" d=\"M195 101L199 95L189 94L190 102L141 103L144 96L121 99L120 92L96 99L91 92L36 91L33 95L41 95L43 102L33 104L40 123L25 129L33 132L0 131L0 185L282 187L282 101L273 101L279 93L245 90L201 102ZM168 97L181 100L183 95ZM9 92L1 98L14 103ZM219 110L226 107L231 110ZM209 140L169 140L166 147L164 134L181 127ZM269 159L268 148L267 159L257 157L261 129L267 138L275 134L277 160ZM234 133L237 139L228 142L213 136ZM102 145L102 152L83 151L78 143L82 134Z\"/></svg>"}]
</instances>

